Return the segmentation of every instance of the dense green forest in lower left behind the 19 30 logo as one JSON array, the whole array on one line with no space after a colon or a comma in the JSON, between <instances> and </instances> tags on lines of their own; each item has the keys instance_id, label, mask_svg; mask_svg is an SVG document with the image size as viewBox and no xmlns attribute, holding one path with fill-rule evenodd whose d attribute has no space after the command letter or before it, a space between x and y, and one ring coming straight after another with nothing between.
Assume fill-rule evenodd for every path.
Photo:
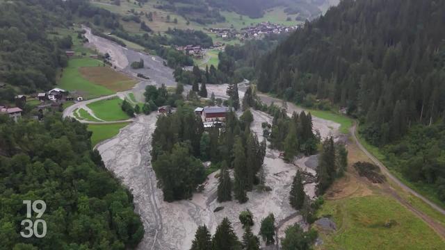
<instances>
[{"instance_id":1,"label":"dense green forest in lower left behind the 19 30 logo","mask_svg":"<svg viewBox=\"0 0 445 250\"><path fill-rule=\"evenodd\" d=\"M144 234L133 197L91 150L86 125L0 116L0 241L4 249L129 249ZM43 200L44 238L22 238L23 200ZM34 217L33 217L34 218ZM40 231L41 232L41 231Z\"/></svg>"}]
</instances>

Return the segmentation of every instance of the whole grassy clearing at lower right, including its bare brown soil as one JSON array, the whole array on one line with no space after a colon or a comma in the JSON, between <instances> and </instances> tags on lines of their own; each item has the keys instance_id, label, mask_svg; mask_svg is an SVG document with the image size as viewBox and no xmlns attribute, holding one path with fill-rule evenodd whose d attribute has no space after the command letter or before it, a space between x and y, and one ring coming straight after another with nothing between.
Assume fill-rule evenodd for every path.
<instances>
[{"instance_id":1,"label":"whole grassy clearing at lower right, including its bare brown soil","mask_svg":"<svg viewBox=\"0 0 445 250\"><path fill-rule=\"evenodd\" d=\"M428 213L430 208L391 182L371 184L359 177L353 163L370 159L355 142L349 142L347 149L346 175L327 190L317 212L318 217L330 217L337 231L326 233L316 226L323 240L316 249L444 249L444 240L396 197L436 218Z\"/></svg>"}]
</instances>

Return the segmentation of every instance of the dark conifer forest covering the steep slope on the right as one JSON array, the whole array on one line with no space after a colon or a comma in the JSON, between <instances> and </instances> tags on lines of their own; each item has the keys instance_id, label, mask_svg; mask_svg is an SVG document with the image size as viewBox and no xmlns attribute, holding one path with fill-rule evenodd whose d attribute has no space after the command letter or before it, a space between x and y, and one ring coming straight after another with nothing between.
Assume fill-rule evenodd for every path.
<instances>
[{"instance_id":1,"label":"dark conifer forest covering the steep slope on the right","mask_svg":"<svg viewBox=\"0 0 445 250\"><path fill-rule=\"evenodd\" d=\"M445 115L444 12L435 0L341 1L261 58L258 88L345 108L408 179L443 187L443 136L432 131Z\"/></svg>"}]
</instances>

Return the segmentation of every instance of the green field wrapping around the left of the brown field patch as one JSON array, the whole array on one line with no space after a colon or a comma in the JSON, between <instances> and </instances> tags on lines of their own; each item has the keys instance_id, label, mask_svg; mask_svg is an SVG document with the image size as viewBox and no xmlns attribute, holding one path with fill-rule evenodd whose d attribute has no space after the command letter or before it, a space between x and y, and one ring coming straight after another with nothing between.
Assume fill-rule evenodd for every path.
<instances>
[{"instance_id":1,"label":"green field wrapping around the left of the brown field patch","mask_svg":"<svg viewBox=\"0 0 445 250\"><path fill-rule=\"evenodd\" d=\"M86 78L83 78L79 72L79 67L102 66L102 62L92 58L73 58L68 61L68 67L63 69L62 77L58 87L68 91L76 90L86 99L92 99L108 94L113 91L108 90L102 85L97 85Z\"/></svg>"}]
</instances>

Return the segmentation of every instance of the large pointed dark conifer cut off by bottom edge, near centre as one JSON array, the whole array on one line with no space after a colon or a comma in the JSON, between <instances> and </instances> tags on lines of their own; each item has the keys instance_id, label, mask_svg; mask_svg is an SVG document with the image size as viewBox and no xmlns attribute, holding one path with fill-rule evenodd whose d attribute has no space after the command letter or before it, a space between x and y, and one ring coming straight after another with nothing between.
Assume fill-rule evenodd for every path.
<instances>
[{"instance_id":1,"label":"large pointed dark conifer cut off by bottom edge, near centre","mask_svg":"<svg viewBox=\"0 0 445 250\"><path fill-rule=\"evenodd\" d=\"M232 224L229 219L225 217L221 224L216 228L215 235L211 240L211 250L237 250L239 249L241 242L232 228Z\"/></svg>"}]
</instances>

